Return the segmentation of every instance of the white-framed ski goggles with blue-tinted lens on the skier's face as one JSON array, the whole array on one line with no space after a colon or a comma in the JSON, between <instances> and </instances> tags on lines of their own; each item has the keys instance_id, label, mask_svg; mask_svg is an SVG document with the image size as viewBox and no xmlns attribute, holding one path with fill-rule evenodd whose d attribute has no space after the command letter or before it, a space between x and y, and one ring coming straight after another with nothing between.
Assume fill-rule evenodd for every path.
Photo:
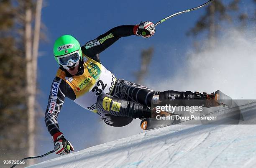
<instances>
[{"instance_id":1,"label":"white-framed ski goggles with blue-tinted lens on the skier's face","mask_svg":"<svg viewBox=\"0 0 256 168\"><path fill-rule=\"evenodd\" d=\"M61 65L67 65L67 66L72 66L74 63L76 63L77 61L79 61L79 59L81 58L80 54L79 54L79 50L74 51L73 53L69 53L67 55L64 56L59 56L57 57L59 64Z\"/></svg>"}]
</instances>

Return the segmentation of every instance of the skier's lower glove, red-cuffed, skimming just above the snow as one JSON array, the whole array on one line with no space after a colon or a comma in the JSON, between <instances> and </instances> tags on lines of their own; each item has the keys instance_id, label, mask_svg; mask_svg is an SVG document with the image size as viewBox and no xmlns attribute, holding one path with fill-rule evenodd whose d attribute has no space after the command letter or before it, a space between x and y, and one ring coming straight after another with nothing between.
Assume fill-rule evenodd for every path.
<instances>
[{"instance_id":1,"label":"skier's lower glove, red-cuffed, skimming just above the snow","mask_svg":"<svg viewBox=\"0 0 256 168\"><path fill-rule=\"evenodd\" d=\"M74 151L71 143L64 138L62 132L57 132L53 135L54 151L58 155L65 155L70 153L70 150Z\"/></svg>"}]
</instances>

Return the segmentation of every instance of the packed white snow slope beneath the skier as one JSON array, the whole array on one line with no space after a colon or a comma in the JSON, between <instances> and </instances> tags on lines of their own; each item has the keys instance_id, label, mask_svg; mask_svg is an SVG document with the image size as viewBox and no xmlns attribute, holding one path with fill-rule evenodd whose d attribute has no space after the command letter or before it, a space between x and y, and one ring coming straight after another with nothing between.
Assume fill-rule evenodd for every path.
<instances>
[{"instance_id":1,"label":"packed white snow slope beneath the skier","mask_svg":"<svg viewBox=\"0 0 256 168\"><path fill-rule=\"evenodd\" d=\"M240 109L242 120L255 123L256 102L244 104ZM217 111L218 114L228 112L233 113L232 109ZM230 115L228 118L235 121ZM242 120L239 121L242 125L192 125L193 121L186 121L93 146L30 168L253 168L256 125L245 125Z\"/></svg>"}]
</instances>

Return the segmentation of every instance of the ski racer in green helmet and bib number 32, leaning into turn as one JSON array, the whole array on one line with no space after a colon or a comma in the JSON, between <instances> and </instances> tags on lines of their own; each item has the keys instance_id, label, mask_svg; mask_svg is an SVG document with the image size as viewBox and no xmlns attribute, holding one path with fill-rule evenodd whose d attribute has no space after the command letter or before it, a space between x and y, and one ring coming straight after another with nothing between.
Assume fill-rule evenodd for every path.
<instances>
[{"instance_id":1,"label":"ski racer in green helmet and bib number 32, leaning into turn","mask_svg":"<svg viewBox=\"0 0 256 168\"><path fill-rule=\"evenodd\" d=\"M151 117L153 99L200 99L205 107L218 106L220 91L212 94L199 92L177 92L167 90L156 92L123 79L116 79L100 62L99 54L121 37L136 35L143 38L153 36L155 27L146 21L139 25L121 25L98 36L80 47L70 35L59 37L54 43L54 58L59 64L51 85L49 102L45 113L46 127L53 137L56 154L64 155L74 151L71 143L59 130L57 116L65 97L80 106L97 113L108 125L122 127L133 118ZM216 100L207 105L207 100ZM198 104L195 104L198 105ZM161 112L161 115L169 115Z\"/></svg>"}]
</instances>

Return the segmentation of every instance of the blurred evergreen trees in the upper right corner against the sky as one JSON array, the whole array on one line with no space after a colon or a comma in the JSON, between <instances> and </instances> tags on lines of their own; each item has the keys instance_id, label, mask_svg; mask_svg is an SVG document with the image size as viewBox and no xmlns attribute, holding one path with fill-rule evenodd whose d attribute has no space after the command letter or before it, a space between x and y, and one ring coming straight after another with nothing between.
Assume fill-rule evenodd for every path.
<instances>
[{"instance_id":1,"label":"blurred evergreen trees in the upper right corner against the sky","mask_svg":"<svg viewBox=\"0 0 256 168\"><path fill-rule=\"evenodd\" d=\"M251 0L251 3L253 2L256 5L256 0ZM248 22L256 20L256 10L251 15L248 11L242 11L240 5L241 0L231 0L227 4L223 0L214 0L205 7L205 14L197 20L194 27L187 32L187 35L195 38L203 32L207 32L208 47L214 47L216 37L223 30L223 27L233 25L233 27L243 30ZM247 5L249 6L249 4ZM195 41L194 45L198 51L201 45L198 41Z\"/></svg>"}]
</instances>

